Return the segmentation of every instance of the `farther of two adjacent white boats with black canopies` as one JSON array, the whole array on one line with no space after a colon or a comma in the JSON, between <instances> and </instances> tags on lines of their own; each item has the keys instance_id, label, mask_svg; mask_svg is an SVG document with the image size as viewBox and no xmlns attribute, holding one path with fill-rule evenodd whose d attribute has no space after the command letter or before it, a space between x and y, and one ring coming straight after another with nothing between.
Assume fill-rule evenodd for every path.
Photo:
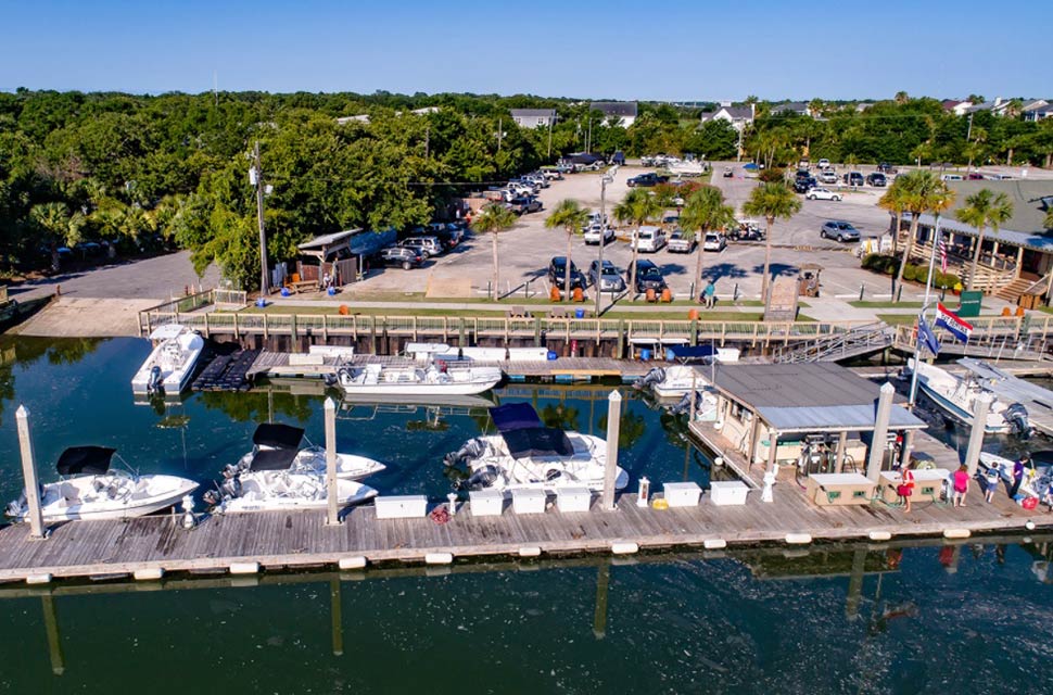
<instances>
[{"instance_id":1,"label":"farther of two adjacent white boats with black canopies","mask_svg":"<svg viewBox=\"0 0 1053 695\"><path fill-rule=\"evenodd\" d=\"M249 472L257 457L266 452L269 464L289 459L286 470L293 473L326 475L326 448L307 442L301 447L304 430L280 422L264 422L256 427L252 434L252 451L241 457L233 466L228 466L224 477L232 478ZM279 456L280 454L280 456ZM379 473L385 466L378 460L355 454L337 453L337 478L341 480L360 480L367 476Z\"/></svg>"}]
</instances>

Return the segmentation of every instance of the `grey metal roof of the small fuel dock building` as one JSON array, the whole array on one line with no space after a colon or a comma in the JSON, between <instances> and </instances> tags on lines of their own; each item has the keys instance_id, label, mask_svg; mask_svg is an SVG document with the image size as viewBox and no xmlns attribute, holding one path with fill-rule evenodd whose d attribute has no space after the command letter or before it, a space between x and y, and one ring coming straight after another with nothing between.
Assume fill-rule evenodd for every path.
<instances>
[{"instance_id":1,"label":"grey metal roof of the small fuel dock building","mask_svg":"<svg viewBox=\"0 0 1053 695\"><path fill-rule=\"evenodd\" d=\"M879 387L833 363L722 365L715 386L779 432L874 429ZM925 422L893 405L889 426L922 429Z\"/></svg>"}]
</instances>

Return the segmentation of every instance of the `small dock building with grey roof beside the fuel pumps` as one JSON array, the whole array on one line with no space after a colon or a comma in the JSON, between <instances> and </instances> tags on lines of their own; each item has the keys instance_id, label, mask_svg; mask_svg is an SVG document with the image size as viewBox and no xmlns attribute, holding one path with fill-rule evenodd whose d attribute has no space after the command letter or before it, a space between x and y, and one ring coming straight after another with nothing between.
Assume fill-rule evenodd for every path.
<instances>
[{"instance_id":1,"label":"small dock building with grey roof beside the fuel pumps","mask_svg":"<svg viewBox=\"0 0 1053 695\"><path fill-rule=\"evenodd\" d=\"M834 363L741 364L720 365L714 388L716 420L698 425L724 440L718 448L739 458L750 478L759 480L775 464L786 466L790 479L798 466L805 476L866 472L878 384ZM906 451L926 425L903 401L893 400L888 432L890 439L902 434ZM886 458L885 468L891 463Z\"/></svg>"}]
</instances>

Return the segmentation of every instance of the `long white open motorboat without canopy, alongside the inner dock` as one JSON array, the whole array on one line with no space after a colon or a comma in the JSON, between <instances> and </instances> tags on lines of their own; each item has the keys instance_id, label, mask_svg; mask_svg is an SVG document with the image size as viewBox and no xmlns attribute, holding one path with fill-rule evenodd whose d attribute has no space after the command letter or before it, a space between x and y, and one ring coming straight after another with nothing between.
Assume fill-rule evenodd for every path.
<instances>
[{"instance_id":1,"label":"long white open motorboat without canopy, alongside the inner dock","mask_svg":"<svg viewBox=\"0 0 1053 695\"><path fill-rule=\"evenodd\" d=\"M493 389L503 376L498 367L464 366L441 361L423 367L370 363L338 368L335 382L348 394L465 395Z\"/></svg>"}]
</instances>

